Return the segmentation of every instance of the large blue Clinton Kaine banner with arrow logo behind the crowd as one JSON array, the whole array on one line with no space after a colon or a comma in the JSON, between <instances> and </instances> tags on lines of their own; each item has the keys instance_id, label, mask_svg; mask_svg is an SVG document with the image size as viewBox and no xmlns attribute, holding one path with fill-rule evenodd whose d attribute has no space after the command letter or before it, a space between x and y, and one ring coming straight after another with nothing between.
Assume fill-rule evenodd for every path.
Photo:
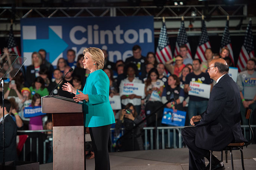
<instances>
[{"instance_id":1,"label":"large blue Clinton Kaine banner with arrow logo behind the crowd","mask_svg":"<svg viewBox=\"0 0 256 170\"><path fill-rule=\"evenodd\" d=\"M98 47L109 52L109 60L125 60L132 56L132 47L140 45L142 55L154 51L153 16L24 18L21 19L21 51L25 65L41 48L54 66L67 50L77 56L84 48ZM76 58L77 59L77 58Z\"/></svg>"}]
</instances>

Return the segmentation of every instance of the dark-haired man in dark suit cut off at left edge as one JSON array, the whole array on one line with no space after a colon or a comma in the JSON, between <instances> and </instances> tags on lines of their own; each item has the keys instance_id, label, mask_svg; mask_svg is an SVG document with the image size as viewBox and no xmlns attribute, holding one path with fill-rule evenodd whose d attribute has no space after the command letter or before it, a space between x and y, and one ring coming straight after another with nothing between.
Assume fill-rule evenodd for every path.
<instances>
[{"instance_id":1,"label":"dark-haired man in dark suit cut off at left edge","mask_svg":"<svg viewBox=\"0 0 256 170\"><path fill-rule=\"evenodd\" d=\"M17 126L9 115L10 107L9 100L4 99L3 114L3 100L0 99L0 162L3 162L3 115L5 117L5 161L18 160L16 151Z\"/></svg>"}]
</instances>

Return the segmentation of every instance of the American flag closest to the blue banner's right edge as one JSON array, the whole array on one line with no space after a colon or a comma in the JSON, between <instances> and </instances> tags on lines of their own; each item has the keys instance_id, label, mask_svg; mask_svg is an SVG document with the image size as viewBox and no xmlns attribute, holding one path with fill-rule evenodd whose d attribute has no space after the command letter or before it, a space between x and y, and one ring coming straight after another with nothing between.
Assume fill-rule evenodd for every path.
<instances>
[{"instance_id":1,"label":"American flag closest to the blue banner's right edge","mask_svg":"<svg viewBox=\"0 0 256 170\"><path fill-rule=\"evenodd\" d=\"M172 59L171 45L169 43L169 38L166 32L165 22L160 30L158 45L156 48L157 61L160 63L165 63Z\"/></svg>"}]
</instances>

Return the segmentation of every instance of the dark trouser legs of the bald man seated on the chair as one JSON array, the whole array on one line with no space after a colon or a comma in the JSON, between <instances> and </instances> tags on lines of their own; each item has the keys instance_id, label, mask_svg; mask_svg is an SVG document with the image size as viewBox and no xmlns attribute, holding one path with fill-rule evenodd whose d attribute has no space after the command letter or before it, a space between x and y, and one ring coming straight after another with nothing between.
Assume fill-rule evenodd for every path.
<instances>
[{"instance_id":1,"label":"dark trouser legs of the bald man seated on the chair","mask_svg":"<svg viewBox=\"0 0 256 170\"><path fill-rule=\"evenodd\" d=\"M196 146L196 130L197 126L184 127L181 131L183 141L189 149L189 170L205 169L205 159L209 158L210 151ZM213 158L215 159L215 158ZM216 158L217 159L217 158ZM216 163L218 160L213 160Z\"/></svg>"}]
</instances>

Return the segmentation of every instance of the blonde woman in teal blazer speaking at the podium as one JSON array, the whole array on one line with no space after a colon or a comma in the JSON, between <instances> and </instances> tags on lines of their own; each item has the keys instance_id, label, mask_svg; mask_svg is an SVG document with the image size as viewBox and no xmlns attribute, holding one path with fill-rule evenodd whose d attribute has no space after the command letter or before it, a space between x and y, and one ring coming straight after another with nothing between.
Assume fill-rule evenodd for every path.
<instances>
[{"instance_id":1,"label":"blonde woman in teal blazer speaking at the podium","mask_svg":"<svg viewBox=\"0 0 256 170\"><path fill-rule=\"evenodd\" d=\"M75 101L82 101L84 126L89 127L95 155L95 170L110 170L107 142L110 127L115 123L113 110L109 103L109 78L102 70L104 53L99 48L85 48L84 69L90 70L83 91L65 83L63 90L72 92Z\"/></svg>"}]
</instances>

